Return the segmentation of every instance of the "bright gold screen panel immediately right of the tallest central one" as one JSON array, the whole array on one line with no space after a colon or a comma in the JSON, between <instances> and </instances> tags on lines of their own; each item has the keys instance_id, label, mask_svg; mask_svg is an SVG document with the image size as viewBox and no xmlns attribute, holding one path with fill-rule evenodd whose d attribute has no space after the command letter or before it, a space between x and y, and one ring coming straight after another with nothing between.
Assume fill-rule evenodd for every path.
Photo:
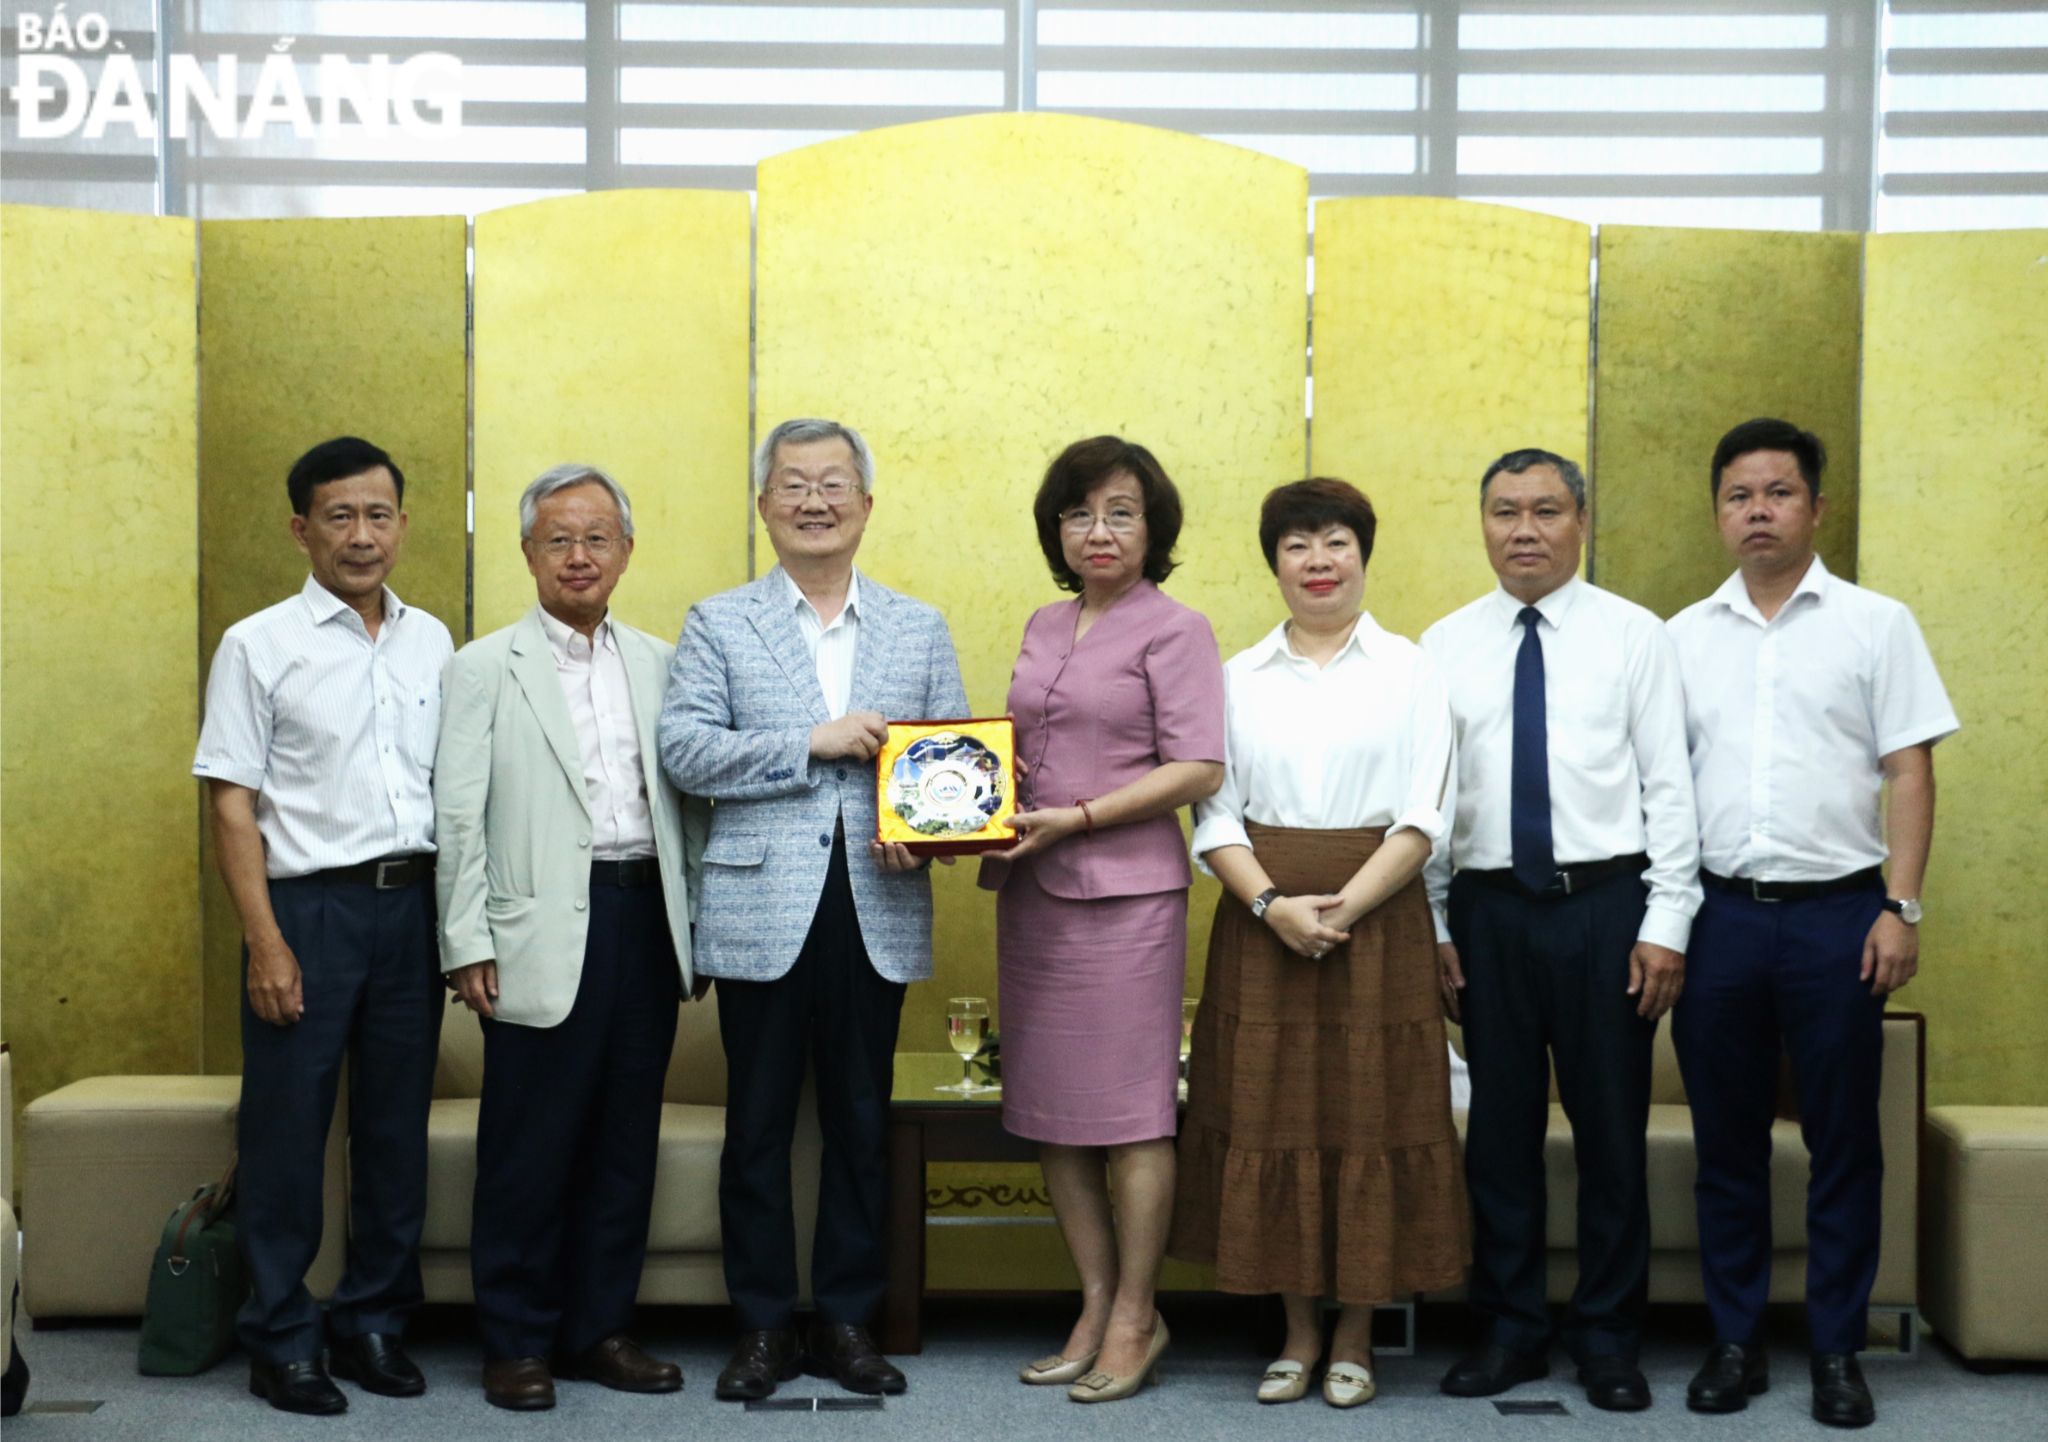
<instances>
[{"instance_id":1,"label":"bright gold screen panel immediately right of the tallest central one","mask_svg":"<svg viewBox=\"0 0 2048 1442\"><path fill-rule=\"evenodd\" d=\"M1479 477L1518 447L1585 461L1591 231L1421 197L1315 207L1311 465L1372 498L1366 606L1421 635L1493 588Z\"/></svg>"}]
</instances>

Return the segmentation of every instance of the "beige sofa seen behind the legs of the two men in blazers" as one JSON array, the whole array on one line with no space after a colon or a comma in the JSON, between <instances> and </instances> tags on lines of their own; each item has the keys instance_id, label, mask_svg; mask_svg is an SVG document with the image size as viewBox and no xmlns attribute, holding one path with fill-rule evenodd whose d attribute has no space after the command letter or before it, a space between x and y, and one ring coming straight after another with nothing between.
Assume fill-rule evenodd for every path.
<instances>
[{"instance_id":1,"label":"beige sofa seen behind the legs of the two men in blazers","mask_svg":"<svg viewBox=\"0 0 2048 1442\"><path fill-rule=\"evenodd\" d=\"M451 1008L440 1028L440 1071L426 1122L426 1231L420 1272L430 1303L473 1301L469 1288L469 1217L477 1180L477 1098L483 1088L483 1034L477 1018ZM725 1051L719 1008L707 995L682 1006L662 1106L653 1217L643 1303L723 1303L719 1247L719 1149L725 1145ZM791 1157L797 1200L797 1274L811 1272L817 1217L817 1110L805 1088Z\"/></svg>"}]
</instances>

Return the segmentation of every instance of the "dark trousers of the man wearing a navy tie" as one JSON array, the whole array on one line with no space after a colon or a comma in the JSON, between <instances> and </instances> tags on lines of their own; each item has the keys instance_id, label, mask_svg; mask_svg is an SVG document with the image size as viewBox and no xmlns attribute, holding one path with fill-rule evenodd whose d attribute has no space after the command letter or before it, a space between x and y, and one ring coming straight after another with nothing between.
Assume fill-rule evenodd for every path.
<instances>
[{"instance_id":1,"label":"dark trousers of the man wearing a navy tie","mask_svg":"<svg viewBox=\"0 0 2048 1442\"><path fill-rule=\"evenodd\" d=\"M1491 1340L1513 1352L1550 1346L1542 1151L1554 1059L1579 1165L1579 1282L1565 1346L1581 1360L1636 1354L1651 1260L1645 1135L1657 1024L1636 1016L1628 952L1645 897L1640 877L1626 873L1544 899L1473 877L1450 883L1473 1075L1470 1299Z\"/></svg>"}]
</instances>

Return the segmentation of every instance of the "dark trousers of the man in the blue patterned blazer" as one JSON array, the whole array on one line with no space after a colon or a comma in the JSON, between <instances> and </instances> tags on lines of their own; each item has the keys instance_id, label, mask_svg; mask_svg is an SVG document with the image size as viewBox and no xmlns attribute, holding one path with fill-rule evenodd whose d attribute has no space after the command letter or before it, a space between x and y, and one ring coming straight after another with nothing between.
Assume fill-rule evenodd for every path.
<instances>
[{"instance_id":1,"label":"dark trousers of the man in the blue patterned blazer","mask_svg":"<svg viewBox=\"0 0 2048 1442\"><path fill-rule=\"evenodd\" d=\"M721 979L717 995L727 1077L719 1221L739 1325L786 1327L797 1309L788 1149L813 1063L823 1168L811 1297L819 1319L864 1327L887 1282L889 1092L903 983L881 977L860 940L844 834L797 963L774 981Z\"/></svg>"}]
</instances>

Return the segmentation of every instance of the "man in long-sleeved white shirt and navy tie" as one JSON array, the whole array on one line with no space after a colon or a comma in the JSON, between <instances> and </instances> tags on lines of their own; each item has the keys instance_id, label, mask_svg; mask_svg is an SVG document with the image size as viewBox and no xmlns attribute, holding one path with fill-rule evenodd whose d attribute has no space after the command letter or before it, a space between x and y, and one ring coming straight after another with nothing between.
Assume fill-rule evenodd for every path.
<instances>
[{"instance_id":1,"label":"man in long-sleeved white shirt and navy tie","mask_svg":"<svg viewBox=\"0 0 2048 1442\"><path fill-rule=\"evenodd\" d=\"M1546 1376L1550 1067L1579 1165L1579 1280L1563 1338L1587 1401L1651 1405L1636 1368L1649 1276L1651 1043L1700 905L1683 696L1663 625L1577 578L1585 475L1511 451L1479 483L1499 588L1423 633L1458 731L1456 819L1425 871L1444 1000L1473 1104L1479 1350L1452 1397Z\"/></svg>"}]
</instances>

